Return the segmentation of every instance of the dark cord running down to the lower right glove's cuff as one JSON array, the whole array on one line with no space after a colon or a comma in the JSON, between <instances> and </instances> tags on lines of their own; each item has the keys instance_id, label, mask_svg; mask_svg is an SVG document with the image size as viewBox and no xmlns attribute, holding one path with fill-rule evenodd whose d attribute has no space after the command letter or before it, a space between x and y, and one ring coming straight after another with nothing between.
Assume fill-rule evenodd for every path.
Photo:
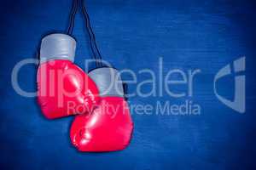
<instances>
[{"instance_id":1,"label":"dark cord running down to the lower right glove's cuff","mask_svg":"<svg viewBox=\"0 0 256 170\"><path fill-rule=\"evenodd\" d=\"M94 55L94 58L96 59L96 67L102 67L102 54L100 53L99 48L96 45L96 37L94 32L92 31L92 28L90 26L90 17L89 14L84 6L84 0L80 0L80 5L82 7L82 12L85 19L86 29L89 33L90 37L90 48Z\"/></svg>"}]
</instances>

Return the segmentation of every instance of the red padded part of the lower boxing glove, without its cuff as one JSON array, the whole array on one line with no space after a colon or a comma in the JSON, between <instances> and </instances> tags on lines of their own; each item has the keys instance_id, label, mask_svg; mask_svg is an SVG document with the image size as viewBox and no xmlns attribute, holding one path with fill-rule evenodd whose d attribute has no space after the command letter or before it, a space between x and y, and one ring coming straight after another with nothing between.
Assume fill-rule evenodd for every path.
<instances>
[{"instance_id":1,"label":"red padded part of the lower boxing glove, without its cuff","mask_svg":"<svg viewBox=\"0 0 256 170\"><path fill-rule=\"evenodd\" d=\"M131 140L132 129L125 100L122 97L102 97L95 111L75 117L70 139L80 151L124 150Z\"/></svg>"}]
</instances>

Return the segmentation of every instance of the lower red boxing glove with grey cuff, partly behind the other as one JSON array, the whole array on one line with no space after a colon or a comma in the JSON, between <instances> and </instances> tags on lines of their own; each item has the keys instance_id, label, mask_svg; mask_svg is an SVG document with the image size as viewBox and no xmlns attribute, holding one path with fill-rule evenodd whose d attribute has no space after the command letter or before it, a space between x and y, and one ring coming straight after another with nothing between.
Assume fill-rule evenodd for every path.
<instances>
[{"instance_id":1,"label":"lower red boxing glove with grey cuff, partly behind the other","mask_svg":"<svg viewBox=\"0 0 256 170\"><path fill-rule=\"evenodd\" d=\"M75 117L71 141L80 151L123 150L131 140L133 122L118 71L98 68L89 76L99 88L101 103L89 115Z\"/></svg>"}]
</instances>

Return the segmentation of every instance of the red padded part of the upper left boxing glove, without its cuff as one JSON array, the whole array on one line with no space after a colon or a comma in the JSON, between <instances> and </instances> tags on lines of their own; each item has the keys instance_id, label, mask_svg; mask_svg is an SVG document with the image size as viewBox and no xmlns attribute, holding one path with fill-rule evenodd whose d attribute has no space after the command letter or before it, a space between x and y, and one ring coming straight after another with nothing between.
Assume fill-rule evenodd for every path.
<instances>
[{"instance_id":1,"label":"red padded part of the upper left boxing glove, without its cuff","mask_svg":"<svg viewBox=\"0 0 256 170\"><path fill-rule=\"evenodd\" d=\"M93 111L99 102L96 84L69 60L50 60L38 68L38 104L54 119Z\"/></svg>"}]
</instances>

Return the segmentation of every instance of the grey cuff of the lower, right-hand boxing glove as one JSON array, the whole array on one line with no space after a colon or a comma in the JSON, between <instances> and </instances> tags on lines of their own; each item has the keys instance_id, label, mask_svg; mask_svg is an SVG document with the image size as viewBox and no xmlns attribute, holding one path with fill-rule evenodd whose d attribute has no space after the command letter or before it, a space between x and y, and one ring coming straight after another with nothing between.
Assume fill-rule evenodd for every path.
<instances>
[{"instance_id":1,"label":"grey cuff of the lower, right-hand boxing glove","mask_svg":"<svg viewBox=\"0 0 256 170\"><path fill-rule=\"evenodd\" d=\"M88 73L89 77L96 83L101 96L124 97L123 82L119 72L110 67L102 67Z\"/></svg>"}]
</instances>

